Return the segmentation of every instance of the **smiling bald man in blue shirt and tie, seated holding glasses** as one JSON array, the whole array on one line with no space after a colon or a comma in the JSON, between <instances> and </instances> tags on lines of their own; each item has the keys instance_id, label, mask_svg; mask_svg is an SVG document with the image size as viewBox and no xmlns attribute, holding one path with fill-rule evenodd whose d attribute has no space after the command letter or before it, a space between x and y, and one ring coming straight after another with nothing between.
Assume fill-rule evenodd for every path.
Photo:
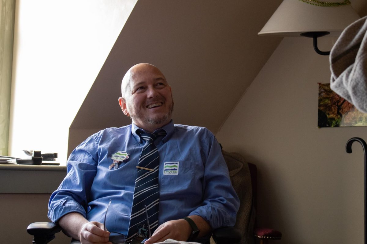
<instances>
[{"instance_id":1,"label":"smiling bald man in blue shirt and tie, seated holding glasses","mask_svg":"<svg viewBox=\"0 0 367 244\"><path fill-rule=\"evenodd\" d=\"M239 199L221 148L208 129L173 124L172 90L162 72L151 64L134 65L122 80L121 94L119 104L132 123L99 131L76 147L67 176L51 195L51 221L82 244L112 243L112 234L121 243L134 243L138 236L146 238L145 244L167 239L208 243L211 230L233 226ZM158 135L159 211L155 222L147 212L149 227L132 227L137 170L154 171L139 166L142 138L149 133ZM172 164L177 170L163 170Z\"/></svg>"}]
</instances>

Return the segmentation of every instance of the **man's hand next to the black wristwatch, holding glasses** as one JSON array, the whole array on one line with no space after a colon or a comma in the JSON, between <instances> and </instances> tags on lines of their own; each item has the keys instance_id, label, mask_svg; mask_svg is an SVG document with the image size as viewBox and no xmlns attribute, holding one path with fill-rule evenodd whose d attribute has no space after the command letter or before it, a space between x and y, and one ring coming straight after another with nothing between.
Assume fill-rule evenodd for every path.
<instances>
[{"instance_id":1,"label":"man's hand next to the black wristwatch, holding glasses","mask_svg":"<svg viewBox=\"0 0 367 244\"><path fill-rule=\"evenodd\" d=\"M185 219L167 221L158 226L156 231L152 234L152 237L145 241L145 244L157 243L167 239L187 241L191 231L191 226Z\"/></svg>"}]
</instances>

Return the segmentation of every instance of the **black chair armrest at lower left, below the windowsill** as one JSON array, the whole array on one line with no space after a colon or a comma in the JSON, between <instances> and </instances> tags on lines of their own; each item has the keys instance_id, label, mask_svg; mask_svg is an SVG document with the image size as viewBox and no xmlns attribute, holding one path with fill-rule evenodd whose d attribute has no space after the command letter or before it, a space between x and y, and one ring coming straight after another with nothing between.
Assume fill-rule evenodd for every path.
<instances>
[{"instance_id":1,"label":"black chair armrest at lower left, below the windowsill","mask_svg":"<svg viewBox=\"0 0 367 244\"><path fill-rule=\"evenodd\" d=\"M27 232L33 237L34 244L46 244L55 238L55 233L61 231L58 224L52 222L35 222L28 225Z\"/></svg>"}]
</instances>

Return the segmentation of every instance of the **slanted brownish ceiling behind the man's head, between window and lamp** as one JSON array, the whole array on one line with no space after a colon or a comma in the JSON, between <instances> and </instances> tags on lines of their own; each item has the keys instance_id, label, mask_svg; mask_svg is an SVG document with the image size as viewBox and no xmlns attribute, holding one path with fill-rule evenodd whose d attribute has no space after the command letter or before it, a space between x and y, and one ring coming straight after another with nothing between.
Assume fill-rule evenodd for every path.
<instances>
[{"instance_id":1,"label":"slanted brownish ceiling behind the man's head, between window and lamp","mask_svg":"<svg viewBox=\"0 0 367 244\"><path fill-rule=\"evenodd\" d=\"M281 41L257 35L281 1L138 0L70 126L69 153L87 136L71 131L131 123L117 99L137 63L165 74L174 123L215 134Z\"/></svg>"}]
</instances>

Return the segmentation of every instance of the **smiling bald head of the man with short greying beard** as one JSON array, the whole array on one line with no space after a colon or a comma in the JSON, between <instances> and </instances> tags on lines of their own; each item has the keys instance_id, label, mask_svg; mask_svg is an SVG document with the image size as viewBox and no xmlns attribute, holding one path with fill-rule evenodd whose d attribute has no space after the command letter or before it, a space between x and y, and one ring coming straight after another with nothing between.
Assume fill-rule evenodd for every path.
<instances>
[{"instance_id":1,"label":"smiling bald head of the man with short greying beard","mask_svg":"<svg viewBox=\"0 0 367 244\"><path fill-rule=\"evenodd\" d=\"M155 66L134 65L124 76L121 91L121 109L138 127L153 132L170 122L174 105L171 87Z\"/></svg>"}]
</instances>

